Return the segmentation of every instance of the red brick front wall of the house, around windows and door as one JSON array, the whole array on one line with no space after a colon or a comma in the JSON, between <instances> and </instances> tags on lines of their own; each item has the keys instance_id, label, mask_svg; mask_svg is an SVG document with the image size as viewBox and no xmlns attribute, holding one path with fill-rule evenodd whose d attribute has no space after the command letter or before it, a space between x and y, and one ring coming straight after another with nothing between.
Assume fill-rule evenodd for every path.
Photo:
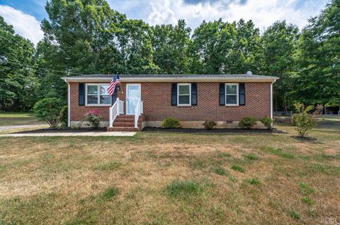
<instances>
[{"instance_id":1,"label":"red brick front wall of the house, around windows and door","mask_svg":"<svg viewBox=\"0 0 340 225\"><path fill-rule=\"evenodd\" d=\"M118 97L126 102L125 83ZM239 121L244 116L271 116L271 83L245 83L246 105L220 106L219 83L198 83L197 106L171 106L171 83L141 83L146 121L162 121L168 116L180 121ZM124 104L126 111L126 104ZM78 83L71 83L71 121L81 121L87 111L98 109L108 121L109 107L79 107Z\"/></svg>"}]
</instances>

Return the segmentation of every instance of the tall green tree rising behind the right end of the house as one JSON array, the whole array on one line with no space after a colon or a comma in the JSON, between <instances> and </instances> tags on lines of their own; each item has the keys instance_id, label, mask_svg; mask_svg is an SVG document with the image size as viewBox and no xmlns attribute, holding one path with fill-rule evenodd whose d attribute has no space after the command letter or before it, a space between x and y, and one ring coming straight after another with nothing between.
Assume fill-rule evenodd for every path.
<instances>
[{"instance_id":1,"label":"tall green tree rising behind the right end of the house","mask_svg":"<svg viewBox=\"0 0 340 225\"><path fill-rule=\"evenodd\" d=\"M261 47L257 51L259 74L280 77L274 83L274 109L287 110L293 107L292 90L295 74L295 46L299 30L297 26L285 23L285 20L273 23L263 32Z\"/></svg>"}]
</instances>

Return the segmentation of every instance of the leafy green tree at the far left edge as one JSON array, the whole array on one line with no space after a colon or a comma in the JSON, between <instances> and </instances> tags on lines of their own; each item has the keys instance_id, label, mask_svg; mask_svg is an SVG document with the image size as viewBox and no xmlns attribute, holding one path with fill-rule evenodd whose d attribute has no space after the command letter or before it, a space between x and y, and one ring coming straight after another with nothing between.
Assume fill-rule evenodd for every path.
<instances>
[{"instance_id":1,"label":"leafy green tree at the far left edge","mask_svg":"<svg viewBox=\"0 0 340 225\"><path fill-rule=\"evenodd\" d=\"M33 44L0 16L0 110L26 111L34 104L38 85L33 66Z\"/></svg>"}]
</instances>

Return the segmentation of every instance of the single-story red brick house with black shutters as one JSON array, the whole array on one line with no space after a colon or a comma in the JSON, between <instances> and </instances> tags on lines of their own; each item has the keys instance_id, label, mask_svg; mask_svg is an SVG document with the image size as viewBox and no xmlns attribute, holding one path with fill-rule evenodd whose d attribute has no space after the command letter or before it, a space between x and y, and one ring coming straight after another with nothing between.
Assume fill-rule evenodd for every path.
<instances>
[{"instance_id":1,"label":"single-story red brick house with black shutters","mask_svg":"<svg viewBox=\"0 0 340 225\"><path fill-rule=\"evenodd\" d=\"M121 85L107 94L113 75L62 78L68 84L68 126L77 126L90 110L98 110L108 130L141 130L179 118L183 128L237 126L244 116L273 117L273 83L263 75L120 75ZM263 126L261 123L257 127Z\"/></svg>"}]
</instances>

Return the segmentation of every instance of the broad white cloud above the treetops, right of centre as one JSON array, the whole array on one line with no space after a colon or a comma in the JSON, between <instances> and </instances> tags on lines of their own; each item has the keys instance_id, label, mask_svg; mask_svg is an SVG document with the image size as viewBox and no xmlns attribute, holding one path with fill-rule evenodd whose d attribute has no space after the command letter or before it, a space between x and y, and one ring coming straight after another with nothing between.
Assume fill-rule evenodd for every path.
<instances>
[{"instance_id":1,"label":"broad white cloud above the treetops, right of centre","mask_svg":"<svg viewBox=\"0 0 340 225\"><path fill-rule=\"evenodd\" d=\"M244 18L253 20L256 27L267 28L276 20L286 20L300 28L307 24L307 19L316 16L327 0L248 0L245 4L239 1L221 0L202 1L198 4L185 4L183 0L151 0L147 22L155 25L162 23L175 24L185 19L188 26L196 28L203 20L211 21L222 18L233 22ZM297 7L297 5L300 5Z\"/></svg>"}]
</instances>

